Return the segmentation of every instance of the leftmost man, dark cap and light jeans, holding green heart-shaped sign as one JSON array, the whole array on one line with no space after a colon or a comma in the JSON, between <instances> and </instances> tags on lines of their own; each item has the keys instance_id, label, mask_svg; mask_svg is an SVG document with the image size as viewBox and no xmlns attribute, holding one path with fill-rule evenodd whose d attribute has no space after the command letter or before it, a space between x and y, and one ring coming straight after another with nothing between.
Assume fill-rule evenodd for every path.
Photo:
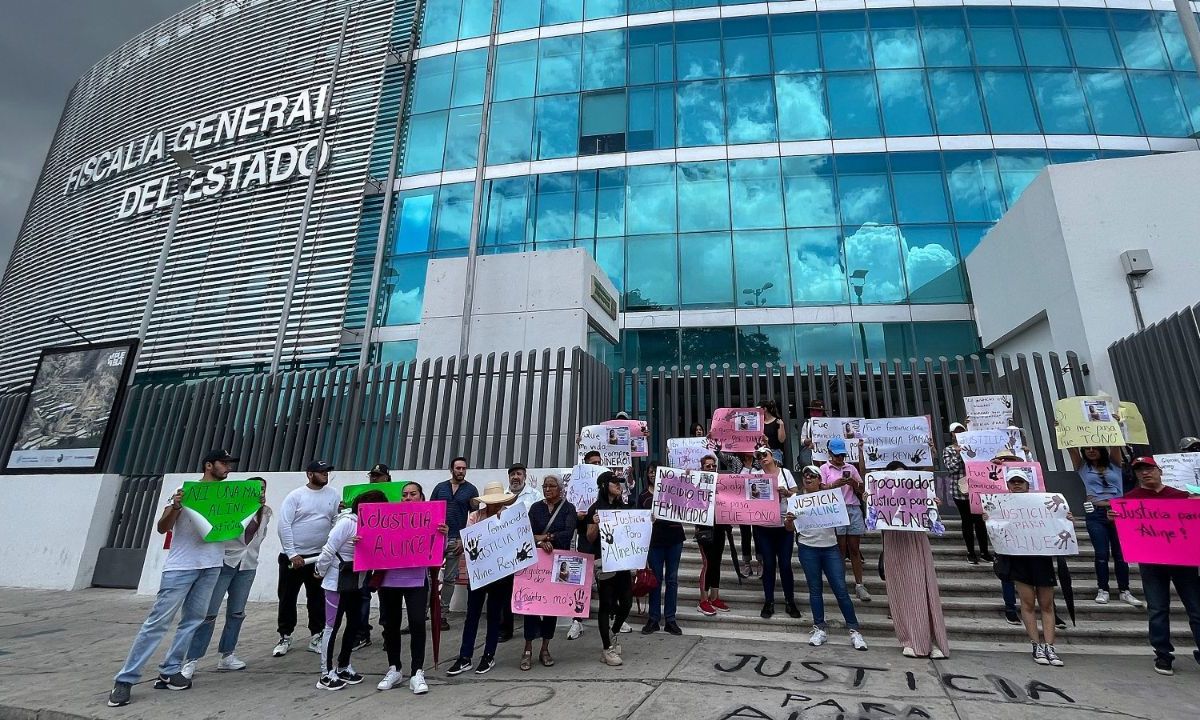
<instances>
[{"instance_id":1,"label":"leftmost man, dark cap and light jeans, holding green heart-shaped sign","mask_svg":"<svg viewBox=\"0 0 1200 720\"><path fill-rule=\"evenodd\" d=\"M229 467L235 462L238 458L226 450L210 451L202 461L204 475L200 482L224 480L229 476ZM108 707L119 708L130 704L133 684L142 678L142 668L158 649L167 628L180 611L182 613L175 628L175 638L162 665L158 666L158 677L154 686L156 690L187 690L192 686L192 680L184 677L180 670L187 646L192 642L196 629L204 622L204 611L209 607L212 588L221 576L224 547L221 542L204 541L191 514L182 511L182 503L184 490L179 488L172 493L158 518L156 526L158 534L170 533L167 540L169 545L167 559L158 581L158 593L150 614L133 638L133 647L130 648L125 665L113 678Z\"/></svg>"}]
</instances>

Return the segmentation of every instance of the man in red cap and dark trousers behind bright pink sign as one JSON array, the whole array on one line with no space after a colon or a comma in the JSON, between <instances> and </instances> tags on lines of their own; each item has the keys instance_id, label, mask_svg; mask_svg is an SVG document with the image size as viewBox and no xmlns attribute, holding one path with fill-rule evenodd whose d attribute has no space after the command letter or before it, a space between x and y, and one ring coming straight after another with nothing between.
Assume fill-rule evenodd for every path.
<instances>
[{"instance_id":1,"label":"man in red cap and dark trousers behind bright pink sign","mask_svg":"<svg viewBox=\"0 0 1200 720\"><path fill-rule=\"evenodd\" d=\"M1183 452L1194 452L1184 450L1188 446L1186 440L1195 440L1193 444L1200 445L1196 438L1183 438L1183 440L1180 443ZM1136 457L1132 464L1134 475L1138 476L1138 487L1127 492L1124 497L1147 500L1183 500L1189 497L1182 490L1163 485L1163 470L1153 457ZM1138 569L1141 572L1141 588L1150 605L1150 644L1154 648L1154 672L1175 674L1172 667L1175 646L1171 644L1171 584L1175 584L1175 592L1178 593L1183 610L1188 613L1192 642L1196 646L1192 655L1200 662L1200 568L1138 563Z\"/></svg>"}]
</instances>

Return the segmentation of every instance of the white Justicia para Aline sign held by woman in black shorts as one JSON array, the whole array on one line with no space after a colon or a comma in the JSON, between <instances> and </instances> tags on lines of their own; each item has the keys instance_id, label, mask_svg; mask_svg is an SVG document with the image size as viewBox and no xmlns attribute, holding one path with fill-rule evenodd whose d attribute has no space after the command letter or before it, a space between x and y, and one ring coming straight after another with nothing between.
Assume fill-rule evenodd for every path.
<instances>
[{"instance_id":1,"label":"white Justicia para Aline sign held by woman in black shorts","mask_svg":"<svg viewBox=\"0 0 1200 720\"><path fill-rule=\"evenodd\" d=\"M1075 523L1058 493L1020 492L983 496L991 551L1009 556L1079 554Z\"/></svg>"}]
</instances>

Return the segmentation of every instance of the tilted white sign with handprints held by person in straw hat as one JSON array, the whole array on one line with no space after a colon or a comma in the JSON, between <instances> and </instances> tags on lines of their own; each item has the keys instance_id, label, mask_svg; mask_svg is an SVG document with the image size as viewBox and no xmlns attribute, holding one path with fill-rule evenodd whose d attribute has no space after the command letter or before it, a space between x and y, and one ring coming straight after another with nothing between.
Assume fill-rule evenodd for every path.
<instances>
[{"instance_id":1,"label":"tilted white sign with handprints held by person in straw hat","mask_svg":"<svg viewBox=\"0 0 1200 720\"><path fill-rule=\"evenodd\" d=\"M461 538L473 590L538 562L524 505L510 505L500 515L467 526Z\"/></svg>"}]
</instances>

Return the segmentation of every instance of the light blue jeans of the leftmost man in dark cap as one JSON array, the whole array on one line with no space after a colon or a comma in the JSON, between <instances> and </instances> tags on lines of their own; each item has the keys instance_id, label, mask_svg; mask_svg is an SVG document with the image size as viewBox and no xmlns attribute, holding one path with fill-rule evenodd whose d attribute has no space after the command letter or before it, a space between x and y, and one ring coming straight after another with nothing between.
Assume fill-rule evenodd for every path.
<instances>
[{"instance_id":1,"label":"light blue jeans of the leftmost man in dark cap","mask_svg":"<svg viewBox=\"0 0 1200 720\"><path fill-rule=\"evenodd\" d=\"M130 656L125 659L125 666L114 678L118 683L137 683L142 679L142 668L158 649L158 643L167 634L170 622L175 619L175 613L182 608L179 626L175 628L175 638L162 665L158 666L158 672L162 674L170 676L179 672L184 664L184 652L192 642L196 629L204 622L204 611L209 607L212 587L220 576L221 568L167 570L162 574L154 607L150 608L150 614L133 638L133 647L130 648Z\"/></svg>"}]
</instances>

